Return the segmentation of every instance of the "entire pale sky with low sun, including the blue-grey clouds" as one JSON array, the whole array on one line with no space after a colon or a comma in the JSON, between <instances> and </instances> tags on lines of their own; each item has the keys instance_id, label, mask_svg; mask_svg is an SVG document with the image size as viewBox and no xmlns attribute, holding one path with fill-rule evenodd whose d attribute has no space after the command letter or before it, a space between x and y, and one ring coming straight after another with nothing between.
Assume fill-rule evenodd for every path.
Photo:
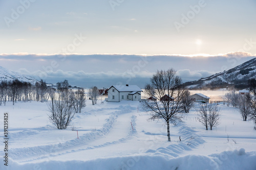
<instances>
[{"instance_id":1,"label":"entire pale sky with low sun, including the blue-grey clouds","mask_svg":"<svg viewBox=\"0 0 256 170\"><path fill-rule=\"evenodd\" d=\"M0 0L0 65L79 86L144 86L169 67L197 80L256 56L255 8L255 0Z\"/></svg>"}]
</instances>

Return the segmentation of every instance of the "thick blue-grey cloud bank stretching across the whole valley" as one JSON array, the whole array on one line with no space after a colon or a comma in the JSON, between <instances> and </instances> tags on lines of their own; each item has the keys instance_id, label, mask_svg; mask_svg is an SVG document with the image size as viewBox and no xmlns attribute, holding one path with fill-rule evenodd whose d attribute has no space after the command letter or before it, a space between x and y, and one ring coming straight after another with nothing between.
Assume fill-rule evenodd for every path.
<instances>
[{"instance_id":1,"label":"thick blue-grey cloud bank stretching across the whole valley","mask_svg":"<svg viewBox=\"0 0 256 170\"><path fill-rule=\"evenodd\" d=\"M183 82L208 77L254 58L246 52L205 57L182 55L45 55L0 54L1 66L20 74L56 83L65 79L72 85L108 87L137 84L144 87L157 70L174 68Z\"/></svg>"}]
</instances>

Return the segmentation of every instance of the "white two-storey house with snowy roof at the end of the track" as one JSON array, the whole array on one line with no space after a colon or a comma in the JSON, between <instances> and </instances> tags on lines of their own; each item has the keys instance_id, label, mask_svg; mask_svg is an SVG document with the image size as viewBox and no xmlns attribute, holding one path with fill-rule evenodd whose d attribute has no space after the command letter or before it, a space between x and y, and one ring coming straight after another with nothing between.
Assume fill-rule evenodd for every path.
<instances>
[{"instance_id":1,"label":"white two-storey house with snowy roof at the end of the track","mask_svg":"<svg viewBox=\"0 0 256 170\"><path fill-rule=\"evenodd\" d=\"M108 90L108 102L140 101L142 90L136 85L115 85Z\"/></svg>"}]
</instances>

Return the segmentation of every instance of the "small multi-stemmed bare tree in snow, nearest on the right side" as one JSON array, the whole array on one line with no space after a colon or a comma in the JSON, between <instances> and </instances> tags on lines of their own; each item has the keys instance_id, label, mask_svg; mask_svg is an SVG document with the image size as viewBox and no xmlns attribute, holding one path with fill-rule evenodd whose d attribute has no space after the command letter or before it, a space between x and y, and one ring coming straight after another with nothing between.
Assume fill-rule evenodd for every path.
<instances>
[{"instance_id":1,"label":"small multi-stemmed bare tree in snow, nearest on the right side","mask_svg":"<svg viewBox=\"0 0 256 170\"><path fill-rule=\"evenodd\" d=\"M197 119L206 130L208 130L208 126L212 130L212 127L220 124L220 109L218 105L215 103L201 103L199 105Z\"/></svg>"}]
</instances>

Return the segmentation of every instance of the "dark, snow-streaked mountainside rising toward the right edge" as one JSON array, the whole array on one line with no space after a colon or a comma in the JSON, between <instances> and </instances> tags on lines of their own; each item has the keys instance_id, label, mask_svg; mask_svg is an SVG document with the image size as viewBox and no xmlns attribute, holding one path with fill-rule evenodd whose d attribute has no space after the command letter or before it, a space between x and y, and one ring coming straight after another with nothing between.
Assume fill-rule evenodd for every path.
<instances>
[{"instance_id":1,"label":"dark, snow-streaked mountainside rising toward the right edge","mask_svg":"<svg viewBox=\"0 0 256 170\"><path fill-rule=\"evenodd\" d=\"M256 58L253 58L237 67L219 72L215 75L201 78L197 81L186 82L184 85L189 89L201 88L246 88L249 79L256 79Z\"/></svg>"}]
</instances>

